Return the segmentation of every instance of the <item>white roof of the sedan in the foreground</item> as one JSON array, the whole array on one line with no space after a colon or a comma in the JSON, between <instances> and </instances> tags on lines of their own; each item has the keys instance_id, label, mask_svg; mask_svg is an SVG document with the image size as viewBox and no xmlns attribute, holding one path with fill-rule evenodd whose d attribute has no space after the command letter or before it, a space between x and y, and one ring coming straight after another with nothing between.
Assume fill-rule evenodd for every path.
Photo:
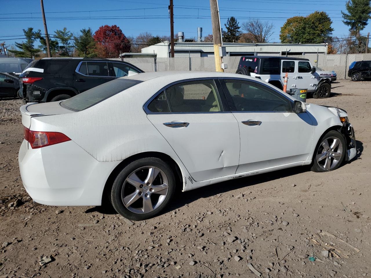
<instances>
[{"instance_id":1,"label":"white roof of the sedan in the foreground","mask_svg":"<svg viewBox=\"0 0 371 278\"><path fill-rule=\"evenodd\" d=\"M236 73L226 72L201 72L201 71L171 71L171 72L144 72L137 75L125 76L121 78L147 81L160 77L171 77L171 79L184 80L195 78L218 78L218 77L239 77L246 79L256 79L246 75L237 75Z\"/></svg>"}]
</instances>

